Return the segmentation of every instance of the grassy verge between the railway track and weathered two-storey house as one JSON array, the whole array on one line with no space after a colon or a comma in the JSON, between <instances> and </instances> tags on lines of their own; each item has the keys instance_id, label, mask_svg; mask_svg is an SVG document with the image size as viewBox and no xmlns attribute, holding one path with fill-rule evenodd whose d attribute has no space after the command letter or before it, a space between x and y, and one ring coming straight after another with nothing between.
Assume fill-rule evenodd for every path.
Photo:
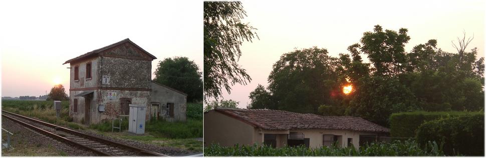
<instances>
[{"instance_id":1,"label":"grassy verge between the railway track and weathered two-storey house","mask_svg":"<svg viewBox=\"0 0 486 158\"><path fill-rule=\"evenodd\" d=\"M61 104L63 106L61 110L61 118L56 117L56 111L53 109L53 101L2 100L2 109L26 116L37 117L50 123L64 125L74 129L87 129L83 125L72 122L73 119L69 117L69 101L62 101ZM146 143L178 147L194 152L202 151L202 141L194 139L195 137L202 137L202 103L188 103L187 106L187 121L147 121L145 135L131 135L126 132L111 132L111 121L91 124L89 128L94 129L97 133L107 136L140 140ZM200 111L200 114L197 114L197 111ZM122 131L127 129L128 120L124 119L122 121ZM63 153L58 154L63 155Z\"/></svg>"}]
</instances>

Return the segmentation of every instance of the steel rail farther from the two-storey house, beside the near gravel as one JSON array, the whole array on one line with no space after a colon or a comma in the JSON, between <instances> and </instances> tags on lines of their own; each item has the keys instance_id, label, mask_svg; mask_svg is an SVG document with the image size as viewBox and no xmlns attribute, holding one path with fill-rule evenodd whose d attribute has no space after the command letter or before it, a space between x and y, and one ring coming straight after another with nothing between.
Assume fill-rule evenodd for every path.
<instances>
[{"instance_id":1,"label":"steel rail farther from the two-storey house, beside the near gravel","mask_svg":"<svg viewBox=\"0 0 486 158\"><path fill-rule=\"evenodd\" d=\"M10 120L13 120L13 121L15 121L15 122L17 122L17 123L19 123L19 124L21 124L21 125L24 125L24 126L26 126L26 127L28 127L28 128L31 128L31 129L33 129L33 130L36 130L36 131L38 131L38 132L40 132L40 133L46 134L46 135L48 135L48 136L50 136L50 137L52 137L52 138L55 138L55 139L58 139L58 140L60 140L60 141L66 142L66 143L68 143L68 144L71 144L71 145L74 145L74 146L78 146L78 147L82 147L82 148L85 148L85 149L87 149L87 150L91 150L91 151L93 151L93 152L95 152L95 153L98 153L98 154L101 154L101 155L104 155L104 156L114 156L114 155L112 155L112 154L110 154L110 153L106 153L106 152L99 151L99 150L96 150L96 149L94 149L94 148L91 148L91 147L85 146L85 145L83 145L83 144L77 143L77 142L75 142L75 141L73 141L73 140L70 140L70 139L68 139L68 138L62 137L62 136L60 136L60 135L54 134L54 133L49 132L49 131L47 131L47 130L44 130L44 129L42 129L42 128L36 127L36 126L34 126L34 125L31 125L31 124L29 124L29 123L26 123L26 122L23 122L23 121L21 121L21 120L15 119L15 118L13 118L13 117L11 117L11 116L8 116L8 115L5 115L5 114L3 114L3 113L2 113L2 116L3 116L3 117L6 117L6 118L8 118L8 119L10 119Z\"/></svg>"}]
</instances>

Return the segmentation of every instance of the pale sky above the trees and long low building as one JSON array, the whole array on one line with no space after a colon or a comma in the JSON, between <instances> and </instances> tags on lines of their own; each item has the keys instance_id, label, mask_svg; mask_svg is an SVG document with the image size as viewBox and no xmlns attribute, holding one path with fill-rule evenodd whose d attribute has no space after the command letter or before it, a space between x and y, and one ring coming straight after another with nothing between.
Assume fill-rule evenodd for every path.
<instances>
[{"instance_id":1,"label":"pale sky above the trees and long low building","mask_svg":"<svg viewBox=\"0 0 486 158\"><path fill-rule=\"evenodd\" d=\"M239 101L240 108L247 107L258 84L268 85L272 65L282 54L317 46L337 57L349 53L346 48L376 24L395 31L407 28L408 52L429 39L437 39L444 51L457 52L451 41L465 32L466 38L474 35L468 49L477 47L478 57L484 56L484 0L244 0L242 5L248 15L243 21L258 29L260 40L241 45L238 63L251 83L223 93L223 99Z\"/></svg>"}]
</instances>

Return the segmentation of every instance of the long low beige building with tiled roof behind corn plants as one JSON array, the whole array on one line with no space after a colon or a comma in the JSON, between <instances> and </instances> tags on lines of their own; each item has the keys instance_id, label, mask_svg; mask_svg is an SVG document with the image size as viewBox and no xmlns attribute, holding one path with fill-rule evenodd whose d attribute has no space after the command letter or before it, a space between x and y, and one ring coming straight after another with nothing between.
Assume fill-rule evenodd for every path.
<instances>
[{"instance_id":1,"label":"long low beige building with tiled roof behind corn plants","mask_svg":"<svg viewBox=\"0 0 486 158\"><path fill-rule=\"evenodd\" d=\"M204 113L204 145L267 144L274 147L359 147L388 128L353 116L321 116L272 109L216 108Z\"/></svg>"}]
</instances>

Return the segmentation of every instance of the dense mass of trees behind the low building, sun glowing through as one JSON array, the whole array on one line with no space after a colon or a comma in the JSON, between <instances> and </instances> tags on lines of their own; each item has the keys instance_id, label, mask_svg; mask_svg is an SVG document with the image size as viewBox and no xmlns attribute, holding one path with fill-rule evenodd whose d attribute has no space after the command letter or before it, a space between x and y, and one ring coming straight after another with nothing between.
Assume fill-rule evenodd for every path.
<instances>
[{"instance_id":1,"label":"dense mass of trees behind the low building, sun glowing through","mask_svg":"<svg viewBox=\"0 0 486 158\"><path fill-rule=\"evenodd\" d=\"M437 48L436 39L407 52L407 31L375 25L339 57L317 47L285 53L273 66L269 86L250 93L249 108L353 115L385 126L393 112L481 110L484 58L477 59L476 48L466 51L470 38L458 38L456 53ZM352 85L351 93L342 92L345 85Z\"/></svg>"}]
</instances>

